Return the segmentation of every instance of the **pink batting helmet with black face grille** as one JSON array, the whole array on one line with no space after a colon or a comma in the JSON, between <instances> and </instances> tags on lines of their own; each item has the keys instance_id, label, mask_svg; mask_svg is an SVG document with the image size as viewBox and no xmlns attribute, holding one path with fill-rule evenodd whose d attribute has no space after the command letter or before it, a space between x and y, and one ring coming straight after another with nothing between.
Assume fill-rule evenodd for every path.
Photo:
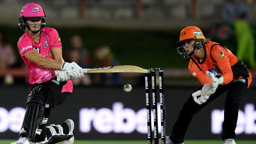
<instances>
[{"instance_id":1,"label":"pink batting helmet with black face grille","mask_svg":"<svg viewBox=\"0 0 256 144\"><path fill-rule=\"evenodd\" d=\"M35 4L35 3L27 4L21 9L20 16L19 16L19 26L21 29L26 31L26 27L30 29L28 26L29 24L27 24L26 20L36 20L36 19L42 20L40 30L43 30L43 27L46 24L44 10L38 4ZM32 32L38 33L40 30L32 31Z\"/></svg>"}]
</instances>

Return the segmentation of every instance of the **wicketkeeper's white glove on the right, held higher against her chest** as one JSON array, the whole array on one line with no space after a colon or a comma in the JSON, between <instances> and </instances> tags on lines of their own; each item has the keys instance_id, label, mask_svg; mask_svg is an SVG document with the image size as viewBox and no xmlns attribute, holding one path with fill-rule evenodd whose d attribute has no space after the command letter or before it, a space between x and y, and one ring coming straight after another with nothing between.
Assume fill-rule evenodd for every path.
<instances>
[{"instance_id":1,"label":"wicketkeeper's white glove on the right, held higher against her chest","mask_svg":"<svg viewBox=\"0 0 256 144\"><path fill-rule=\"evenodd\" d=\"M221 74L214 75L213 73L206 71L205 74L212 80L212 92L214 94L217 87L223 84L223 76Z\"/></svg>"}]
</instances>

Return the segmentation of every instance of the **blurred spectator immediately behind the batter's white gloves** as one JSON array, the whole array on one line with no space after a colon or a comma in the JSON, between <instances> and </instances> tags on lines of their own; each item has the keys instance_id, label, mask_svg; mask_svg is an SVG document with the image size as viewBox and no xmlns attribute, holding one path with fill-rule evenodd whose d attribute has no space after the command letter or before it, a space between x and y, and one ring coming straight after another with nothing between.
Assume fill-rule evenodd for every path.
<instances>
[{"instance_id":1,"label":"blurred spectator immediately behind the batter's white gloves","mask_svg":"<svg viewBox=\"0 0 256 144\"><path fill-rule=\"evenodd\" d=\"M82 64L80 64L81 63L81 54L78 49L69 50L68 58L69 59L66 59L66 61L75 62L75 63L79 64L82 68L85 68L85 67L83 67ZM90 85L91 84L90 76L89 76L89 74L86 74L86 73L84 74L84 77L82 77L80 79L71 79L71 80L72 80L74 86Z\"/></svg>"}]
</instances>

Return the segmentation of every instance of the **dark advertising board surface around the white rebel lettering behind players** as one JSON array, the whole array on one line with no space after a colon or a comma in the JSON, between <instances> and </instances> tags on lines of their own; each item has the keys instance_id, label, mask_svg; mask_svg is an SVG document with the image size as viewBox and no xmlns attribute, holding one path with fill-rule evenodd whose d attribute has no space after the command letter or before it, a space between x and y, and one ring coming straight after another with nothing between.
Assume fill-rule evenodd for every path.
<instances>
[{"instance_id":1,"label":"dark advertising board surface around the white rebel lettering behind players","mask_svg":"<svg viewBox=\"0 0 256 144\"><path fill-rule=\"evenodd\" d=\"M170 135L172 125L177 119L178 112L183 102L190 95L191 91L196 87L164 87L165 89L165 106L166 106L166 135ZM28 94L28 86L6 86L0 89L2 99L1 107L8 111L13 107L24 107L26 96ZM254 103L256 90L252 89L241 100L240 110L244 111L245 104ZM135 112L145 106L145 90L142 86L134 86L129 93L124 92L122 86L116 87L74 87L74 93L60 106L52 109L48 124L60 124L68 118L74 120L74 135L76 139L138 139L147 138L146 134L140 134L134 131L129 134L124 133L99 133L95 129L89 133L81 133L79 131L79 110L81 108L109 108L112 109L114 102L122 102L124 108L132 108ZM224 108L225 94L218 97L212 103L207 105L202 111L196 114L186 133L186 139L220 139L221 134L211 133L211 112L213 109ZM254 110L254 115L256 111ZM254 116L256 117L256 116ZM0 120L1 121L1 120ZM254 123L255 124L255 123ZM10 130L0 133L0 138L13 139L18 133ZM255 134L238 134L237 139L255 140Z\"/></svg>"}]
</instances>

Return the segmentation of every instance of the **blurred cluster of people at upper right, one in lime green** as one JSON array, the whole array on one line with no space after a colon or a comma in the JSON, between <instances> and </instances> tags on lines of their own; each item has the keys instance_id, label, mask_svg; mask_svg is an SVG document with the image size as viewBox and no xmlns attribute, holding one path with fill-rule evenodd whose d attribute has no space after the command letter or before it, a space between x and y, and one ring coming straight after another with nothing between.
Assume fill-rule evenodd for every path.
<instances>
[{"instance_id":1,"label":"blurred cluster of people at upper right, one in lime green","mask_svg":"<svg viewBox=\"0 0 256 144\"><path fill-rule=\"evenodd\" d=\"M251 0L226 0L221 13L221 23L215 24L208 38L225 45L238 59L255 70L255 32L250 24Z\"/></svg>"}]
</instances>

